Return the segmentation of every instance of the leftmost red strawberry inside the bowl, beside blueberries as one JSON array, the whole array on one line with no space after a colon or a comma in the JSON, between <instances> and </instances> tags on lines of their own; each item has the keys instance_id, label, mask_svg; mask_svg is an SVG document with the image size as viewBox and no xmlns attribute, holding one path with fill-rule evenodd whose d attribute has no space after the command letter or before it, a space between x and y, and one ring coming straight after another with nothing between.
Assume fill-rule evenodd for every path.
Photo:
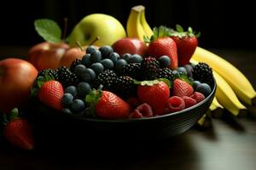
<instances>
[{"instance_id":1,"label":"leftmost red strawberry inside the bowl, beside blueberries","mask_svg":"<svg viewBox=\"0 0 256 170\"><path fill-rule=\"evenodd\" d=\"M61 111L61 97L64 94L61 82L50 80L44 82L38 92L38 99L55 110Z\"/></svg>"}]
</instances>

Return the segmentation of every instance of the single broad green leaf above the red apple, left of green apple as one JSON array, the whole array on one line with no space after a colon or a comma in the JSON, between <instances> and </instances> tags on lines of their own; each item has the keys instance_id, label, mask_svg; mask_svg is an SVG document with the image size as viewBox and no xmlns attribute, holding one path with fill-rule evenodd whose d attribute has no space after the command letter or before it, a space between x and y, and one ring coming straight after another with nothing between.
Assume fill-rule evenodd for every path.
<instances>
[{"instance_id":1,"label":"single broad green leaf above the red apple, left of green apple","mask_svg":"<svg viewBox=\"0 0 256 170\"><path fill-rule=\"evenodd\" d=\"M34 26L38 34L43 37L46 42L61 42L61 28L54 20L35 20Z\"/></svg>"}]
</instances>

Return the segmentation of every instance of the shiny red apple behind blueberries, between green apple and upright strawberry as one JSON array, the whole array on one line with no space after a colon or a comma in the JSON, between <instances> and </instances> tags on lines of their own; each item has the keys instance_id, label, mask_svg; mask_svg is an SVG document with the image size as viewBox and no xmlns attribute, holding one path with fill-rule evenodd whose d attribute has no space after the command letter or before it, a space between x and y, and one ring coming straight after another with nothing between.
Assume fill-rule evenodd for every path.
<instances>
[{"instance_id":1,"label":"shiny red apple behind blueberries, between green apple and upright strawberry","mask_svg":"<svg viewBox=\"0 0 256 170\"><path fill-rule=\"evenodd\" d=\"M148 49L148 46L145 42L132 37L119 39L117 42L113 43L112 47L113 51L117 52L119 55L129 53L145 56Z\"/></svg>"}]
</instances>

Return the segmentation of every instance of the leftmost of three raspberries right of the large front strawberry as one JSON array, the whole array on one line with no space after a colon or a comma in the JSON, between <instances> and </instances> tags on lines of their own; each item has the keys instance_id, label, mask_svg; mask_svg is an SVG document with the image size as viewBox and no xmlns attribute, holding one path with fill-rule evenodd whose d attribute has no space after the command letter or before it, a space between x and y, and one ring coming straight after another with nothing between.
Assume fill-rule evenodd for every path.
<instances>
[{"instance_id":1,"label":"leftmost of three raspberries right of the large front strawberry","mask_svg":"<svg viewBox=\"0 0 256 170\"><path fill-rule=\"evenodd\" d=\"M167 101L167 107L170 113L182 111L183 109L185 109L185 102L181 97L172 96Z\"/></svg>"}]
</instances>

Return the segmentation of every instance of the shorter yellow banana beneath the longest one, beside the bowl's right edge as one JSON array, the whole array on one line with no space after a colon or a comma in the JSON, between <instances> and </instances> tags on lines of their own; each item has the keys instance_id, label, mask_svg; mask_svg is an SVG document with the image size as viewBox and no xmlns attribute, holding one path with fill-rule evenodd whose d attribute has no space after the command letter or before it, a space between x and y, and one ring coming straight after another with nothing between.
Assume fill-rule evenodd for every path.
<instances>
[{"instance_id":1,"label":"shorter yellow banana beneath the longest one, beside the bowl's right edge","mask_svg":"<svg viewBox=\"0 0 256 170\"><path fill-rule=\"evenodd\" d=\"M230 85L225 82L224 78L218 75L217 72L212 71L213 77L217 83L216 98L219 104L223 105L225 109L230 111L233 115L238 116L246 107L241 104L239 99L237 99L236 94Z\"/></svg>"}]
</instances>

